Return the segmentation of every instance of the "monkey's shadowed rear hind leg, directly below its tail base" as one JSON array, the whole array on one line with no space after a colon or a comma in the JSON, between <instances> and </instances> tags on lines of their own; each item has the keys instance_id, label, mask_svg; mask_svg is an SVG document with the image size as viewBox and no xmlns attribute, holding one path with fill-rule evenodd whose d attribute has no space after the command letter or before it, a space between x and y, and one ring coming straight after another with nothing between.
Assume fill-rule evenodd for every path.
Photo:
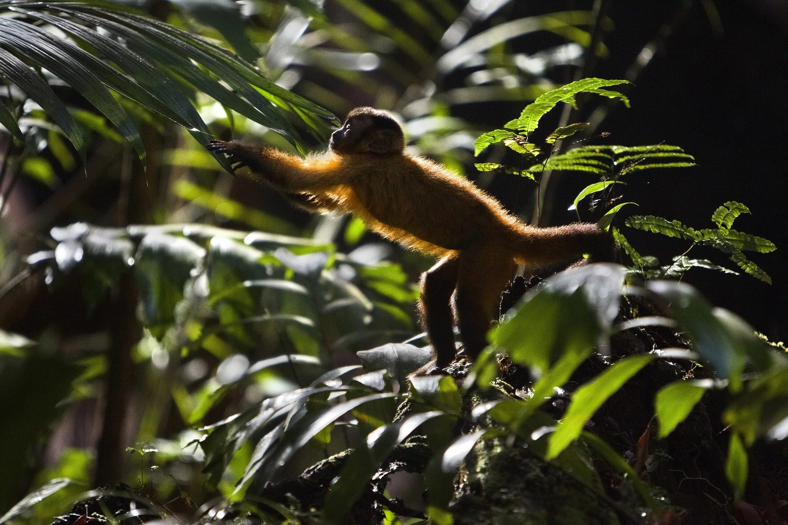
<instances>
[{"instance_id":1,"label":"monkey's shadowed rear hind leg, directly below its tail base","mask_svg":"<svg viewBox=\"0 0 788 525\"><path fill-rule=\"evenodd\" d=\"M502 248L479 246L460 254L455 309L468 359L476 359L487 346L487 331L499 315L500 296L516 270L513 254Z\"/></svg>"}]
</instances>

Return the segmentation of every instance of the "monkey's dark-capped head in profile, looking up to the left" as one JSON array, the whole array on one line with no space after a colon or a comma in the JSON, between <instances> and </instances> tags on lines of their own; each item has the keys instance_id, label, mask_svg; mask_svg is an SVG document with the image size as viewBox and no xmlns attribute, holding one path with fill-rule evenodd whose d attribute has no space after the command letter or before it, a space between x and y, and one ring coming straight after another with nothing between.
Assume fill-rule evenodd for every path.
<instances>
[{"instance_id":1,"label":"monkey's dark-capped head in profile, looking up to the left","mask_svg":"<svg viewBox=\"0 0 788 525\"><path fill-rule=\"evenodd\" d=\"M405 138L400 124L385 111L357 107L348 114L344 125L332 133L329 147L340 155L401 154Z\"/></svg>"}]
</instances>

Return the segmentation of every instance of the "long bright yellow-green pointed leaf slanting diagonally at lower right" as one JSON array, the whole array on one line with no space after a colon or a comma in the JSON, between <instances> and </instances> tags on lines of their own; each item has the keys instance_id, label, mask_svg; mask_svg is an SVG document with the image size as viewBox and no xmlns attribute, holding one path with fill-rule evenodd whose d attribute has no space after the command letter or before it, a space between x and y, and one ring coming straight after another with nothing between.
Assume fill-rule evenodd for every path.
<instances>
[{"instance_id":1,"label":"long bright yellow-green pointed leaf slanting diagonally at lower right","mask_svg":"<svg viewBox=\"0 0 788 525\"><path fill-rule=\"evenodd\" d=\"M628 356L619 359L608 370L585 383L572 394L567 413L558 424L556 431L550 436L548 460L558 456L567 446L580 437L585 423L614 393L637 374L643 367L651 363L655 356L645 354Z\"/></svg>"}]
</instances>

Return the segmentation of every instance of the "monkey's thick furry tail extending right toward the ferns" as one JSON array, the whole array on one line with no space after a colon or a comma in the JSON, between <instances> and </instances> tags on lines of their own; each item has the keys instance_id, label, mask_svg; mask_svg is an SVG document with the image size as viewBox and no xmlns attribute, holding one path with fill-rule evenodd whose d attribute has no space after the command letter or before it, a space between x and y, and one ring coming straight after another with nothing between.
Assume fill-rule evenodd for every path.
<instances>
[{"instance_id":1,"label":"monkey's thick furry tail extending right toward the ferns","mask_svg":"<svg viewBox=\"0 0 788 525\"><path fill-rule=\"evenodd\" d=\"M537 228L519 225L513 242L519 263L548 266L573 263L589 255L593 263L615 262L618 251L613 236L596 224L578 222L566 226Z\"/></svg>"}]
</instances>

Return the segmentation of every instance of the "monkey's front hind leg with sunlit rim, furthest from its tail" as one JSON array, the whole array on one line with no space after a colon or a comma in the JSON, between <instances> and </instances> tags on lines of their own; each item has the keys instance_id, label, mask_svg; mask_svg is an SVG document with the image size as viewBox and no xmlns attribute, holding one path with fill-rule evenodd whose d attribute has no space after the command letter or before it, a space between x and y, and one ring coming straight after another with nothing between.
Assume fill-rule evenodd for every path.
<instances>
[{"instance_id":1,"label":"monkey's front hind leg with sunlit rim, furthest from its tail","mask_svg":"<svg viewBox=\"0 0 788 525\"><path fill-rule=\"evenodd\" d=\"M418 307L438 368L448 367L456 353L451 302L457 285L457 270L457 257L452 254L422 274Z\"/></svg>"}]
</instances>

